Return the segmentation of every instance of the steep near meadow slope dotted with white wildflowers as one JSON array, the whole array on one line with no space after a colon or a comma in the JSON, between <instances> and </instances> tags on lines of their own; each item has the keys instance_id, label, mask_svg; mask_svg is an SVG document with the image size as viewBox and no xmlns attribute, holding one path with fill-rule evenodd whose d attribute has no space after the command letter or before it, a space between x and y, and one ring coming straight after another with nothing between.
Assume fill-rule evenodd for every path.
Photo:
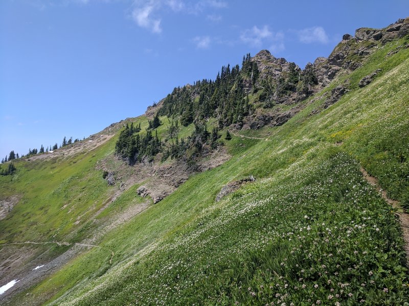
<instances>
[{"instance_id":1,"label":"steep near meadow slope dotted with white wildflowers","mask_svg":"<svg viewBox=\"0 0 409 306\"><path fill-rule=\"evenodd\" d=\"M396 155L405 154L407 149L408 52L404 50L383 61L391 48L392 45L378 50L367 65L352 75L351 84L356 87L360 78L381 66L384 75L373 84L354 90L319 115L308 116L322 101L311 105L285 125L260 132L271 134L270 141L233 139L228 144L234 155L231 161L195 175L174 194L106 235L101 245L115 249L118 253L116 263L127 259L132 253L135 255L131 261L111 269L95 283L87 284L83 290L78 290L82 285L78 286L75 293L70 293L67 303L77 296L80 298L76 302L82 304L104 300L107 304L118 304L119 301L131 303L137 299L141 303L154 303L154 297L164 293L161 299L184 304L195 302L193 297L196 294L193 292L201 292L201 295L197 295L199 299L207 298L204 294L209 294L211 304L216 303L218 298L221 299L220 303L236 300L264 302L266 298L271 300L272 294L275 296L280 292L297 298L297 294L308 296L313 291L317 299L328 298L330 288L321 284L323 279L319 280L316 274L325 274L325 269L313 264L317 257L327 263L326 266L330 267L327 272L331 275L338 271L337 279L343 284L345 279L354 279L355 275L356 284L351 282L353 284L349 290L353 294L350 301L363 296L367 300L384 299L385 303L388 297L394 298L394 301L407 298L407 291L402 288L402 283L407 283L406 270L401 266L402 241L393 213L362 182L356 163L358 160L372 173L378 174L384 186L388 187L388 181L382 180L379 173L388 179L387 173L396 171ZM392 71L388 72L390 69ZM385 114L389 114L389 117ZM343 144L334 147L333 143L339 141L343 141ZM399 144L395 148L397 154L385 150L391 143ZM373 164L370 158L377 154L384 157L379 158L382 161L380 166ZM213 204L222 185L248 174L270 179L248 186L217 205ZM399 179L401 176L396 177ZM394 193L394 184L390 182L388 190L391 194L396 198L402 197L406 191L401 188ZM404 177L401 182L405 187L407 179ZM322 187L324 184L325 188ZM353 190L353 185L358 186L356 190ZM352 195L348 196L346 191ZM211 208L203 212L209 206ZM372 221L363 221L363 218L367 218L362 215L363 210L369 212ZM304 214L310 219L305 219ZM354 228L352 220L359 222L359 226L362 223L368 226L363 227L365 230L362 231L351 229L353 236L347 238L345 235L350 234L346 234L346 231L350 230L349 227ZM330 243L322 241L326 239L323 234L326 228L322 228L321 222L330 224L328 228L335 233L333 236L336 239ZM306 238L292 237L297 244L287 242L286 236L282 237L283 233L295 233L301 226L307 225L310 225L311 231ZM372 225L378 226L380 232L376 232L376 228L371 230ZM320 240L314 240L319 237ZM373 242L368 242L368 238L372 238ZM292 249L300 239L313 260L308 259L308 255L304 258L299 248ZM358 254L352 251L334 256L340 249L339 245L343 250L352 251L354 247ZM149 257L144 256L148 249L152 250ZM291 250L297 255L295 259ZM362 253L365 251L374 253L367 257ZM324 253L331 253L333 257L323 258ZM91 250L46 279L32 292L57 292L57 297L77 281L86 283L86 276L92 269L84 273L79 271L85 267L98 268L97 262L106 257L102 250ZM191 259L195 259L194 263ZM359 266L360 262L362 265ZM358 264L359 269L353 266L354 263ZM336 268L336 265L339 267ZM172 268L165 271L163 267L166 266ZM300 276L297 273L301 273L301 267L314 269L311 275L304 275L307 291L287 289L294 286L302 288L302 282L297 283ZM107 268L94 269L98 271L94 276L102 274ZM374 273L374 278L366 275L369 271ZM287 281L287 287L279 276ZM73 281L63 286L67 279ZM357 282L357 279L362 279L369 287L362 287L363 283ZM380 282L371 287L373 279ZM324 281L328 282L325 278ZM314 282L321 282L319 290L313 288ZM276 283L280 290L274 287ZM274 285L273 289L270 289L271 284ZM383 288L387 287L390 292L383 296ZM95 288L93 292L82 295L91 288ZM164 291L164 288L169 289ZM334 297L335 294L339 293L334 293ZM347 302L348 298L344 295L342 301ZM57 304L60 303L59 300Z\"/></svg>"}]
</instances>

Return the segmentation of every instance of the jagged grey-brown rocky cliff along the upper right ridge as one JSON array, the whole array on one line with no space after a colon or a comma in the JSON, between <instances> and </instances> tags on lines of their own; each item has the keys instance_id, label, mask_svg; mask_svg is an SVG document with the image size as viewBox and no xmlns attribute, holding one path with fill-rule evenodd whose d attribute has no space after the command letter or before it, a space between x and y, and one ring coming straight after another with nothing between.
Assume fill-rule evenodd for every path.
<instances>
[{"instance_id":1,"label":"jagged grey-brown rocky cliff along the upper right ridge","mask_svg":"<svg viewBox=\"0 0 409 306\"><path fill-rule=\"evenodd\" d=\"M280 104L293 105L290 110L281 111L280 107L266 110L256 110L252 118L246 118L243 123L235 124L237 130L260 129L265 125L275 126L284 124L292 116L296 115L303 106L300 101L306 99L311 94L322 90L338 74L350 73L360 67L366 59L382 44L399 39L409 34L409 17L399 19L383 29L360 28L355 31L355 36L345 34L332 51L325 57L317 58L313 63L308 63L304 69L294 63L287 62L284 58L276 58L268 50L261 50L253 61L257 63L260 80L268 80L273 84L275 92L267 96L267 109ZM407 48L409 44L399 46ZM395 51L395 53L398 50ZM306 73L312 71L315 82L312 85L300 86L300 82L295 89L279 94L280 82L288 80L291 73L299 74L301 80L305 80ZM369 84L379 71L368 75L359 83L360 87ZM300 80L299 79L299 80ZM258 84L259 86L261 84ZM302 85L302 84L301 84ZM251 85L250 85L251 87ZM324 108L336 103L345 93L349 91L350 84L346 82L334 88L328 93ZM251 88L249 88L251 89Z\"/></svg>"}]
</instances>

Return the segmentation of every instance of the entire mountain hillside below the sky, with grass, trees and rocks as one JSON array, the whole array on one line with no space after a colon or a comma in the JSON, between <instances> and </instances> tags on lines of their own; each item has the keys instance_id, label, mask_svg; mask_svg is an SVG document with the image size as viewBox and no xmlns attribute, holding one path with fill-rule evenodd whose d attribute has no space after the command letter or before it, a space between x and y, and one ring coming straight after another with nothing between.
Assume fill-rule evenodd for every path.
<instances>
[{"instance_id":1,"label":"entire mountain hillside below the sky, with grass, trees and rocks","mask_svg":"<svg viewBox=\"0 0 409 306\"><path fill-rule=\"evenodd\" d=\"M15 160L0 302L407 304L408 34L358 29L305 69L262 50Z\"/></svg>"}]
</instances>

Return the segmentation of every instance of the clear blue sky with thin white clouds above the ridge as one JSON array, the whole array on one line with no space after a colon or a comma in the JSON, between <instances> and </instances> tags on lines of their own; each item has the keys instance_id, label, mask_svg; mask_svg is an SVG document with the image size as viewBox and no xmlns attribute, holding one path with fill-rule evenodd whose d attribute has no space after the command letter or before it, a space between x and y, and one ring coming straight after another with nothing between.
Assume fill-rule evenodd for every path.
<instances>
[{"instance_id":1,"label":"clear blue sky with thin white clouds above the ridge","mask_svg":"<svg viewBox=\"0 0 409 306\"><path fill-rule=\"evenodd\" d=\"M304 67L407 16L407 0L2 0L0 160L141 115L246 53Z\"/></svg>"}]
</instances>

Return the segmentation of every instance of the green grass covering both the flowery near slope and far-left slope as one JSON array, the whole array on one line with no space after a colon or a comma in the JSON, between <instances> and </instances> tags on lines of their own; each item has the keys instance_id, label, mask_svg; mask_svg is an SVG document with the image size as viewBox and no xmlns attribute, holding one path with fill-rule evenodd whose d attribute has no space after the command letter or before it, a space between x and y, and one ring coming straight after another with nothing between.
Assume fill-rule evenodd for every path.
<instances>
[{"instance_id":1,"label":"green grass covering both the flowery near slope and far-left slope","mask_svg":"<svg viewBox=\"0 0 409 306\"><path fill-rule=\"evenodd\" d=\"M115 251L112 267L105 249L92 249L29 291L36 294L36 301L58 305L311 304L316 300L403 304L409 298L408 274L394 211L358 170L360 165L366 167L392 197L405 203L409 50L385 58L399 43L379 48L349 75L351 92L330 108L309 115L322 106L323 98L282 126L243 133L268 141L239 137L224 141L230 161L193 175L173 194L102 238L100 245ZM359 80L377 68L381 75L358 88ZM335 80L325 91L346 78ZM161 120L166 122L164 117ZM180 133L189 135L189 129L192 126ZM166 125L158 129L161 136L165 132ZM39 203L47 196L54 199L47 193L52 191L64 198L71 195L70 187L81 188L78 182L91 180L85 190L102 191L98 197L102 200L109 187L99 187L101 173L93 169L97 160L111 154L114 144L115 139L96 151L92 162L89 156L79 159L74 173L68 164L58 165L55 169L63 174L59 181L46 185L47 191L39 187L25 197L35 199L44 192L34 200ZM13 178L16 182L7 183L10 188L4 187L5 191L18 193L33 186L35 180L27 182L34 172L42 174L33 179L41 179L53 165L26 166L33 169L21 165ZM84 171L87 174L81 174ZM223 185L247 175L254 175L257 182L214 202ZM135 188L111 203L101 218L140 203ZM72 193L74 198L78 191ZM92 193L84 196L88 208L92 201L98 202ZM27 222L23 215L38 205L17 211L10 220ZM56 211L62 202L54 199L51 206L48 211ZM44 228L56 226L60 215L48 214L50 220L41 219L40 213L34 220L46 222ZM58 222L66 222L67 217L62 218ZM33 236L25 233L27 223L16 230L3 224L8 226L6 233L12 231L7 239ZM73 226L62 228L68 234ZM85 237L85 232L76 239ZM32 300L25 294L14 303Z\"/></svg>"}]
</instances>

